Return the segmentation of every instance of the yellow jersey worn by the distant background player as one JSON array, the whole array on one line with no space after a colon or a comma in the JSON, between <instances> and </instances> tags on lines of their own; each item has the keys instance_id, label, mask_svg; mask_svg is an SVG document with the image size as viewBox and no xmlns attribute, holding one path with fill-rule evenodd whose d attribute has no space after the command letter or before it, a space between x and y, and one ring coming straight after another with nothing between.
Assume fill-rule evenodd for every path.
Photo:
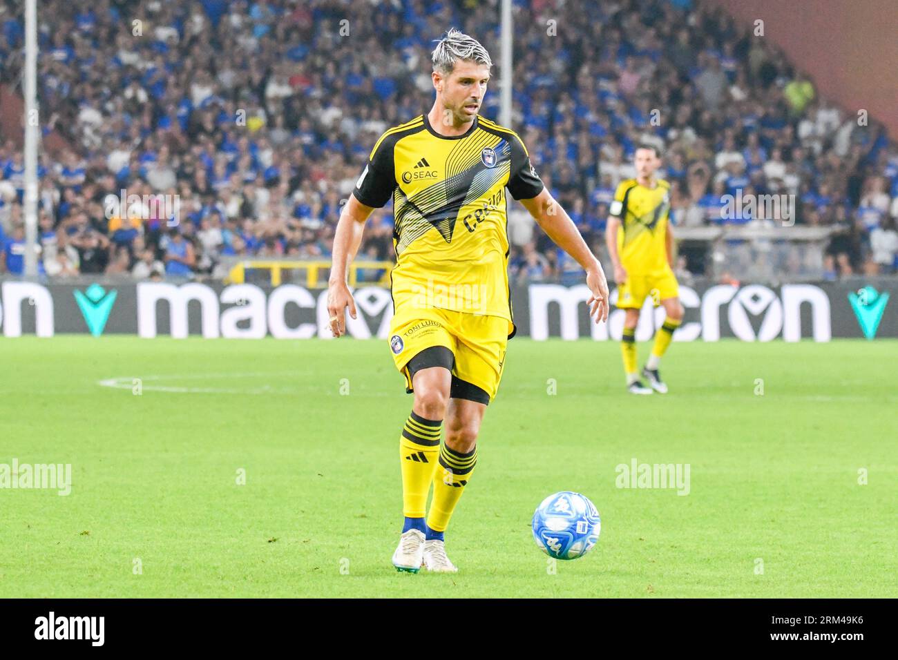
<instances>
[{"instance_id":1,"label":"yellow jersey worn by the distant background player","mask_svg":"<svg viewBox=\"0 0 898 660\"><path fill-rule=\"evenodd\" d=\"M618 255L630 275L656 276L668 272L667 223L670 217L670 184L659 179L646 188L635 179L621 181L609 213L621 218Z\"/></svg>"}]
</instances>

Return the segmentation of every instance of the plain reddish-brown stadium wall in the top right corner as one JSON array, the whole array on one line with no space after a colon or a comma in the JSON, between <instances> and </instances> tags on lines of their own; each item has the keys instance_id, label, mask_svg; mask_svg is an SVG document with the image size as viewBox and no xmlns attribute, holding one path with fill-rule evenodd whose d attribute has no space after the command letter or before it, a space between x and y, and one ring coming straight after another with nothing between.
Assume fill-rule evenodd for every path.
<instances>
[{"instance_id":1,"label":"plain reddish-brown stadium wall in the top right corner","mask_svg":"<svg viewBox=\"0 0 898 660\"><path fill-rule=\"evenodd\" d=\"M898 0L707 0L764 21L789 61L843 109L868 110L898 138Z\"/></svg>"}]
</instances>

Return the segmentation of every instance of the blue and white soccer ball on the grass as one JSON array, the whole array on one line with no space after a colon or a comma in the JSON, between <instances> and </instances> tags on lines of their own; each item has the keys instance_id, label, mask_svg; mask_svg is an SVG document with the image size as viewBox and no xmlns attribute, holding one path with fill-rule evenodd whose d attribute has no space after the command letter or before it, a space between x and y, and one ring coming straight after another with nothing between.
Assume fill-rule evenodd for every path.
<instances>
[{"instance_id":1,"label":"blue and white soccer ball on the grass","mask_svg":"<svg viewBox=\"0 0 898 660\"><path fill-rule=\"evenodd\" d=\"M555 559L583 557L599 540L601 529L594 504L569 490L546 497L533 513L533 539Z\"/></svg>"}]
</instances>

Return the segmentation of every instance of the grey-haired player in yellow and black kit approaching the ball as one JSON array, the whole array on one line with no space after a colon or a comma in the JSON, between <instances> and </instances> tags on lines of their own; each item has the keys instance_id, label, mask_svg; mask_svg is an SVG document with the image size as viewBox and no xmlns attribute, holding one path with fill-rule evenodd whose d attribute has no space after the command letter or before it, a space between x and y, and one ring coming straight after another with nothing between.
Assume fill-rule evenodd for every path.
<instances>
[{"instance_id":1,"label":"grey-haired player in yellow and black kit approaching the ball","mask_svg":"<svg viewBox=\"0 0 898 660\"><path fill-rule=\"evenodd\" d=\"M433 65L433 108L381 136L343 208L328 292L330 328L339 337L346 309L356 318L347 275L365 220L392 197L389 348L415 397L400 436L405 522L392 564L416 573L422 565L457 570L446 556L444 532L471 481L480 422L515 334L506 189L585 269L590 315L596 322L608 316L602 266L543 186L521 138L478 115L492 66L487 50L450 30Z\"/></svg>"}]
</instances>

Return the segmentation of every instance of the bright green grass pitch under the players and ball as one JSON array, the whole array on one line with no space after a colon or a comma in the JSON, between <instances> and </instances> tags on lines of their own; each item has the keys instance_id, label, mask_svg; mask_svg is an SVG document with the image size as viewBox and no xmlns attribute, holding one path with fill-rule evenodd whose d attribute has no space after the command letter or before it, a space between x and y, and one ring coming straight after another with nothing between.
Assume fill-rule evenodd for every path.
<instances>
[{"instance_id":1,"label":"bright green grass pitch under the players and ball","mask_svg":"<svg viewBox=\"0 0 898 660\"><path fill-rule=\"evenodd\" d=\"M0 596L894 597L896 355L676 343L671 393L635 397L616 343L513 339L441 576L390 564L411 396L385 341L2 339L0 463L73 486L0 489ZM689 494L616 488L633 459L688 464ZM553 570L530 520L557 490L602 535Z\"/></svg>"}]
</instances>

